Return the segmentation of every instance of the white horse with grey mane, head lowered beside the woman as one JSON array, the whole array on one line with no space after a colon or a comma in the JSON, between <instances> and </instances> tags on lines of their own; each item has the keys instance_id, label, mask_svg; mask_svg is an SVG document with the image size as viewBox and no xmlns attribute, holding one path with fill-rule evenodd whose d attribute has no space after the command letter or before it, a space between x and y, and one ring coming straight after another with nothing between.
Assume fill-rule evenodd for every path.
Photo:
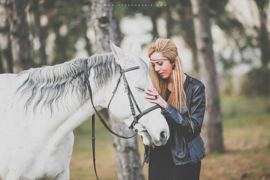
<instances>
[{"instance_id":1,"label":"white horse with grey mane, head lowered beside the woman","mask_svg":"<svg viewBox=\"0 0 270 180\"><path fill-rule=\"evenodd\" d=\"M89 82L97 110L106 108L123 69L140 66L125 73L141 110L152 107L144 90L153 88L149 68L138 56L135 41L130 53L111 43L113 52L88 58ZM95 113L83 74L84 58L54 66L1 74L0 81L0 176L3 180L69 179L73 130ZM133 121L123 79L110 104L110 111L128 126ZM139 114L135 108L136 114ZM146 132L138 133L145 145L166 144L170 132L155 109L139 122ZM127 126L127 127L128 127ZM136 127L137 126L137 127ZM135 128L140 129L136 124Z\"/></svg>"}]
</instances>

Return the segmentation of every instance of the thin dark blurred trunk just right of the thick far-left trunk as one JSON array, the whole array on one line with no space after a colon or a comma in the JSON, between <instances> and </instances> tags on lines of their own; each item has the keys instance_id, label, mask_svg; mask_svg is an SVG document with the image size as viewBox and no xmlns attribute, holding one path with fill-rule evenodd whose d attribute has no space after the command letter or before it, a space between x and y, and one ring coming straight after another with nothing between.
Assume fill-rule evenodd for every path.
<instances>
[{"instance_id":1,"label":"thin dark blurred trunk just right of the thick far-left trunk","mask_svg":"<svg viewBox=\"0 0 270 180\"><path fill-rule=\"evenodd\" d=\"M45 29L41 27L40 24L40 11L39 11L39 5L38 5L38 0L33 0L33 13L34 13L34 19L35 19L35 29L39 38L40 42L40 48L39 48L39 53L40 53L40 58L41 58L41 65L46 65L47 64L47 55L45 51L46 47L46 35L45 35Z\"/></svg>"}]
</instances>

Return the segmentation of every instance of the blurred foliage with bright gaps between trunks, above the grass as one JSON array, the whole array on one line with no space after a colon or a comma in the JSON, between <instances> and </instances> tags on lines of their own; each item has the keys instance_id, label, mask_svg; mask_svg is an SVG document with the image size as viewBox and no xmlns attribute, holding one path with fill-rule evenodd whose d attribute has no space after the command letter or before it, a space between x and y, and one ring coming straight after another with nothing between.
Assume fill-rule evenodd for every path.
<instances>
[{"instance_id":1,"label":"blurred foliage with bright gaps between trunks, above the grass","mask_svg":"<svg viewBox=\"0 0 270 180\"><path fill-rule=\"evenodd\" d=\"M4 0L1 1L0 10L4 14ZM184 70L198 77L199 65L189 0L139 0L136 4L141 5L136 7L131 7L135 3L127 0L113 0L112 4L122 47L130 46L131 37L134 37L130 28L139 32L136 34L139 39L141 34L148 35L140 39L144 49L143 58L147 58L146 48L156 37L171 38L179 45L179 54L186 67ZM149 7L149 4L163 6ZM269 0L245 0L242 2L245 6L239 8L237 5L241 3L233 0L210 0L209 4L220 94L269 95L269 80L265 77L269 75L270 59ZM244 9L246 7L248 9ZM89 1L29 0L26 12L33 67L59 64L77 56L88 57L98 53L90 22ZM10 72L12 66L5 18L1 16L1 73ZM125 24L129 20L143 25L133 23L129 27Z\"/></svg>"}]
</instances>

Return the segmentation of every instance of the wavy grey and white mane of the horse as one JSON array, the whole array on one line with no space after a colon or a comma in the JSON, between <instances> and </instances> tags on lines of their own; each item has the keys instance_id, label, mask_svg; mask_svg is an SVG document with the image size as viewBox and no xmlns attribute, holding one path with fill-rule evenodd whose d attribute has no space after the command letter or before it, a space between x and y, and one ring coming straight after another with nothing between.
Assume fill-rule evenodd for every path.
<instances>
[{"instance_id":1,"label":"wavy grey and white mane of the horse","mask_svg":"<svg viewBox=\"0 0 270 180\"><path fill-rule=\"evenodd\" d=\"M74 58L62 64L31 68L18 73L16 77L22 76L23 74L28 74L28 77L16 89L16 93L21 91L21 98L22 95L32 92L26 101L24 110L27 112L29 105L38 94L38 99L33 107L34 114L36 107L43 99L45 99L45 101L41 106L41 110L43 107L47 107L51 111L51 115L53 113L53 102L55 102L57 110L59 110L59 100L61 100L62 106L64 107L62 101L64 98L67 107L67 101L65 100L69 92L71 92L74 98L79 100L82 106L83 102L86 100L87 94L86 79L83 73L84 62L85 58ZM142 72L149 74L147 64L140 58L138 58L137 62ZM94 82L98 89L110 82L112 77L120 71L120 66L116 62L112 52L92 55L87 59L87 63L88 74L90 74L92 68L94 70ZM115 68L113 69L113 67Z\"/></svg>"}]
</instances>

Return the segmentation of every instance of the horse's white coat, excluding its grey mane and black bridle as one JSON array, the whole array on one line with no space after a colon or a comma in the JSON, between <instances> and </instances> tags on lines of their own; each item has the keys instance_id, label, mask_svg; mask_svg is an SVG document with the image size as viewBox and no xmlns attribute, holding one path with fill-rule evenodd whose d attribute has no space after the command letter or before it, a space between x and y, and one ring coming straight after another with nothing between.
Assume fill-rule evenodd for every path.
<instances>
[{"instance_id":1,"label":"horse's white coat, excluding its grey mane and black bridle","mask_svg":"<svg viewBox=\"0 0 270 180\"><path fill-rule=\"evenodd\" d=\"M125 60L138 58L140 45L135 41L129 54L111 42L116 61L122 68L137 66L136 61L126 64ZM120 75L120 73L119 73ZM137 88L153 88L150 76L143 76L139 70L125 73L130 88L136 98L140 109L155 105L149 103L144 96L144 91ZM28 111L24 106L29 97L26 93L19 99L20 93L15 93L19 85L27 78L28 74L15 77L16 74L1 74L0 86L0 176L3 180L18 179L69 179L69 163L72 154L74 135L73 130L85 122L95 113L89 96L80 106L79 101L69 93L66 101L69 107L53 104L54 113L46 112L38 105L35 116L33 114L33 102ZM98 110L106 108L115 88L118 77L113 77L106 86L97 91L93 82L93 71L91 70L89 81L93 92L93 101ZM137 88L136 88L137 87ZM128 126L133 121L129 106L128 96L124 93L123 80L119 84L117 92L110 104L110 111ZM43 103L44 99L41 101ZM41 111L41 112L40 112ZM139 114L135 108L136 114ZM139 133L146 145L164 145L169 138L169 128L166 120L160 113L160 109L144 115L140 120L147 132ZM127 126L127 127L128 127ZM140 125L135 125L140 129ZM161 141L161 132L164 131L165 140Z\"/></svg>"}]
</instances>

